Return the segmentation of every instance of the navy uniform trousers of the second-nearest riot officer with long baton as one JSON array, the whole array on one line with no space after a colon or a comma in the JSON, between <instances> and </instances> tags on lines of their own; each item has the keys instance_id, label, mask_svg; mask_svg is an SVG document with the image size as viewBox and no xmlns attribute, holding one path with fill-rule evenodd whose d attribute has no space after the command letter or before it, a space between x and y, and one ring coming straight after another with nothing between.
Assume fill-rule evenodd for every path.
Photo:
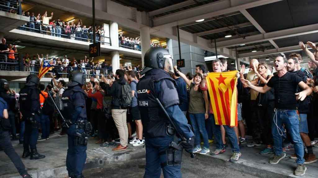
<instances>
[{"instance_id":1,"label":"navy uniform trousers of the second-nearest riot officer with long baton","mask_svg":"<svg viewBox=\"0 0 318 178\"><path fill-rule=\"evenodd\" d=\"M68 175L78 176L82 174L84 164L86 161L86 149L87 145L77 145L75 146L75 124L71 125L67 129L67 141L68 149L66 156L66 169ZM80 134L84 132L83 129L78 130Z\"/></svg>"}]
</instances>

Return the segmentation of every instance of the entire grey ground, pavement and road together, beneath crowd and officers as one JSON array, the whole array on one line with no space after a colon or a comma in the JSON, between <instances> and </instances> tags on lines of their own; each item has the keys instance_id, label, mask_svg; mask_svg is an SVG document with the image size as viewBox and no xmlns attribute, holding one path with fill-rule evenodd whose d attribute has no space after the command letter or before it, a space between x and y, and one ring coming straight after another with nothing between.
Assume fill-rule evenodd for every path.
<instances>
[{"instance_id":1,"label":"entire grey ground, pavement and road together, beneath crowd and officers","mask_svg":"<svg viewBox=\"0 0 318 178\"><path fill-rule=\"evenodd\" d=\"M105 169L105 171L108 170L108 173L111 173L105 177L116 174L118 174L117 177L129 174L131 177L134 177L134 171L137 171L139 172L138 174L143 175L143 161L135 162L133 164L119 164L115 166L113 166L113 164L114 162L127 162L129 160L144 158L144 148L129 146L125 151L113 152L111 149L114 148L114 146L101 148L99 145L94 143L95 141L96 140L90 139L88 144L87 161L85 165L85 169L87 170L85 171L86 173L93 174L95 171L102 172L102 170ZM17 141L13 142L13 144L15 145L14 148L16 149L17 153L22 155L22 145L18 145ZM233 177L240 175L239 173L242 175L253 175L263 178L296 177L293 175L294 168L296 167L295 161L293 159L285 158L281 160L279 164L269 164L269 158L273 155L259 155L259 152L264 148L264 145L254 148L243 146L241 148L242 157L236 163L228 162L232 153L231 148L227 148L224 154L217 156L210 156L209 154L197 155L195 159L186 159L186 157L189 156L188 154L185 154L183 156L185 158L183 164L183 177L213 177L213 174L220 175L220 177L225 177L226 175L223 175L225 170L226 172L231 172L231 174L233 171ZM210 149L213 150L215 147L211 145ZM45 154L46 158L41 160L23 159L24 164L26 165L29 173L33 175L33 178L65 177L67 173L65 167L67 151L66 136L51 136L49 140L39 142L38 151L42 154ZM289 155L293 153L294 150L287 151L287 154ZM314 153L318 156L318 148L314 148ZM100 169L93 169L93 171L91 171L91 168L97 167L100 167ZM226 169L221 171L223 170L222 168ZM302 177L318 177L318 162L307 165L307 168L306 175ZM218 171L214 172L214 169ZM238 172L235 172L234 170ZM105 175L106 173L107 172L105 172ZM96 176L102 176L102 174ZM3 151L0 151L0 177L19 177L14 165Z\"/></svg>"}]
</instances>

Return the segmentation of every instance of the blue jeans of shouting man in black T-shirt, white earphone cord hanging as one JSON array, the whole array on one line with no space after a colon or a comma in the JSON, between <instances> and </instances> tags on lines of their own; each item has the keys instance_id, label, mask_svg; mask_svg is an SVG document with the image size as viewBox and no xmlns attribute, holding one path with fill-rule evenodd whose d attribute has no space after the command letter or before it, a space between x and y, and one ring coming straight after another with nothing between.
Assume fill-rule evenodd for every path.
<instances>
[{"instance_id":1,"label":"blue jeans of shouting man in black T-shirt, white earphone cord hanging","mask_svg":"<svg viewBox=\"0 0 318 178\"><path fill-rule=\"evenodd\" d=\"M275 124L277 119L277 126ZM289 131L290 136L294 142L295 154L297 156L297 164L304 163L304 145L299 133L299 120L296 110L283 110L277 109L274 119L272 121L272 134L274 140L274 153L279 156L283 152L282 149L282 136L280 130L283 130L282 125ZM279 131L278 131L279 130ZM279 133L280 132L280 133Z\"/></svg>"}]
</instances>

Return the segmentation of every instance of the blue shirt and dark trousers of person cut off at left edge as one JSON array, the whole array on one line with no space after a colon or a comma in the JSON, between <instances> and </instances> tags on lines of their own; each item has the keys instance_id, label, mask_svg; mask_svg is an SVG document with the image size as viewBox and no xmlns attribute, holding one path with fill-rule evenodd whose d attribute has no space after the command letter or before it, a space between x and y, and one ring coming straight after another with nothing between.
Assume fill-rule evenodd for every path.
<instances>
[{"instance_id":1,"label":"blue shirt and dark trousers of person cut off at left edge","mask_svg":"<svg viewBox=\"0 0 318 178\"><path fill-rule=\"evenodd\" d=\"M7 103L0 98L0 148L4 150L4 153L9 156L10 160L13 162L14 166L19 171L22 177L30 178L31 176L25 170L25 166L18 156L12 143L10 141L10 123L8 118L3 118L3 110L7 109Z\"/></svg>"}]
</instances>

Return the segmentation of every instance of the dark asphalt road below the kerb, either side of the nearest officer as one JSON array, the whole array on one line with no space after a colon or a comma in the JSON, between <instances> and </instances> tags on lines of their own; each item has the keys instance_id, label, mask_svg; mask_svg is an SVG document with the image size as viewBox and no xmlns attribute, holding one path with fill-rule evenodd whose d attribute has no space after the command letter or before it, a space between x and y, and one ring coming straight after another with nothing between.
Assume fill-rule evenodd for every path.
<instances>
[{"instance_id":1,"label":"dark asphalt road below the kerb, either side of the nearest officer","mask_svg":"<svg viewBox=\"0 0 318 178\"><path fill-rule=\"evenodd\" d=\"M221 177L221 178L258 178L231 168L218 166L215 159L211 162L199 161L190 157L183 158L182 177L185 178L201 178L201 177ZM145 160L130 161L120 164L111 164L100 168L86 170L84 175L86 178L141 178L144 175ZM124 171L123 171L124 170ZM161 178L163 175L161 174Z\"/></svg>"}]
</instances>

